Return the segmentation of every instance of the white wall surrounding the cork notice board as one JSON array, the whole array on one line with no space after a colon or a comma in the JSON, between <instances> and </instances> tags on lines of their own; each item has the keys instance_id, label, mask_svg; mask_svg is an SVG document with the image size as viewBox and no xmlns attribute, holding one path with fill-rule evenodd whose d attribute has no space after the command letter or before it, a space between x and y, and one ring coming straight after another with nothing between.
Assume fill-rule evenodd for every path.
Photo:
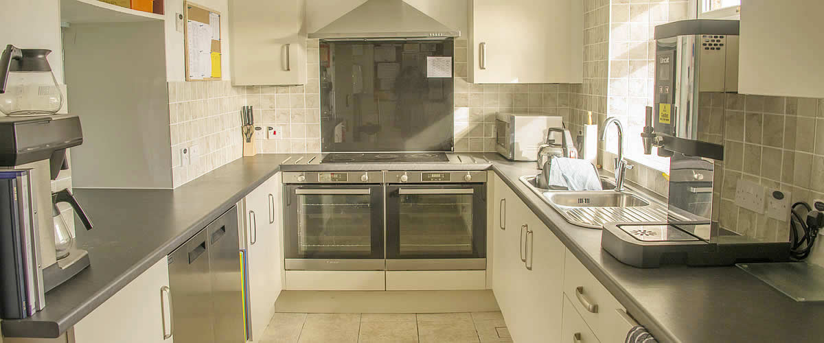
<instances>
[{"instance_id":1,"label":"white wall surrounding the cork notice board","mask_svg":"<svg viewBox=\"0 0 824 343\"><path fill-rule=\"evenodd\" d=\"M12 1L12 0L2 0ZM242 1L242 0L241 0ZM223 80L231 80L229 64L229 5L227 0L196 0L199 6L220 12L220 51ZM185 49L183 30L176 28L176 16L183 14L183 0L166 0L166 75L167 81L185 81ZM185 25L185 23L184 23Z\"/></svg>"}]
</instances>

